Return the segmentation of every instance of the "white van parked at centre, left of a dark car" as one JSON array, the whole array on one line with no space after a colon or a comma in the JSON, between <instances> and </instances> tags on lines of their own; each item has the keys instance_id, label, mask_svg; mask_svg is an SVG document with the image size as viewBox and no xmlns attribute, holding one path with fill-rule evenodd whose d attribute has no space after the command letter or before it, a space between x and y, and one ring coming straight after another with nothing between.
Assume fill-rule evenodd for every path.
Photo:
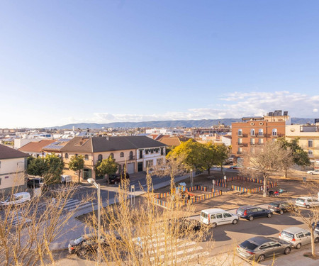
<instances>
[{"instance_id":1,"label":"white van parked at centre, left of a dark car","mask_svg":"<svg viewBox=\"0 0 319 266\"><path fill-rule=\"evenodd\" d=\"M239 217L237 215L230 214L230 212L223 209L206 209L201 211L201 222L212 228L227 223L236 224L238 221Z\"/></svg>"}]
</instances>

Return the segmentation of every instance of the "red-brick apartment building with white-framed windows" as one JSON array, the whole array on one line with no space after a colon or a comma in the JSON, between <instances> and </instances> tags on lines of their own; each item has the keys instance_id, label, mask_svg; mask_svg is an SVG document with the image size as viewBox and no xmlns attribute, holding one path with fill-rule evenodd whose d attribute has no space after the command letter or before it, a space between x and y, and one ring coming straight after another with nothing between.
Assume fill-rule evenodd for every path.
<instances>
[{"instance_id":1,"label":"red-brick apartment building with white-framed windows","mask_svg":"<svg viewBox=\"0 0 319 266\"><path fill-rule=\"evenodd\" d=\"M232 123L232 153L237 162L254 153L257 147L267 141L284 137L286 123L290 123L288 112L276 110L266 116L243 117L241 122Z\"/></svg>"}]
</instances>

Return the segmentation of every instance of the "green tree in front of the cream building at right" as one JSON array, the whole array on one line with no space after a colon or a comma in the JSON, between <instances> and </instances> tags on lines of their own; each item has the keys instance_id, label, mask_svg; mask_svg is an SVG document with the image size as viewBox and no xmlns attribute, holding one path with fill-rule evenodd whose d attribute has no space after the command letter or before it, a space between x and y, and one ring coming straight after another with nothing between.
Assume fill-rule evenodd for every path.
<instances>
[{"instance_id":1,"label":"green tree in front of the cream building at right","mask_svg":"<svg viewBox=\"0 0 319 266\"><path fill-rule=\"evenodd\" d=\"M286 158L286 164L284 166L285 177L287 178L288 169L291 165L296 164L299 166L305 167L306 165L310 165L310 159L308 153L301 148L299 145L299 138L295 138L293 140L286 140L285 138L278 138L278 142L281 144L281 147L285 150L289 150L291 153L291 159L289 157Z\"/></svg>"}]
</instances>

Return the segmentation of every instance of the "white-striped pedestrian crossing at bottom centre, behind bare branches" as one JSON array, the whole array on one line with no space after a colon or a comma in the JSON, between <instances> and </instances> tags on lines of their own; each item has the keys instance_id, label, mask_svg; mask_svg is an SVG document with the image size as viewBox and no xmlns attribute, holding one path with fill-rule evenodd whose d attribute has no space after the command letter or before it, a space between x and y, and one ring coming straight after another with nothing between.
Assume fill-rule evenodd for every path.
<instances>
[{"instance_id":1,"label":"white-striped pedestrian crossing at bottom centre, behind bare branches","mask_svg":"<svg viewBox=\"0 0 319 266\"><path fill-rule=\"evenodd\" d=\"M172 238L165 233L147 236L145 238L138 237L133 239L135 244L140 247L142 256L147 255L146 260L152 263L167 261L172 265L185 265L199 257L209 255L193 240L184 238Z\"/></svg>"}]
</instances>

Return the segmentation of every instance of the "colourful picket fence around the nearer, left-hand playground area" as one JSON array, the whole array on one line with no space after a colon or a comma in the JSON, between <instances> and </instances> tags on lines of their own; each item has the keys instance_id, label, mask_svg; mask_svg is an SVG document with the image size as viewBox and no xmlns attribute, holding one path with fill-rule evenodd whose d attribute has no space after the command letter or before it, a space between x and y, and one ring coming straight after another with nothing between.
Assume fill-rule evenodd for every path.
<instances>
[{"instance_id":1,"label":"colourful picket fence around the nearer, left-hand playground area","mask_svg":"<svg viewBox=\"0 0 319 266\"><path fill-rule=\"evenodd\" d=\"M188 187L186 188L186 192L194 192L194 191L202 191L207 192L207 187L203 186L194 186L194 187ZM158 206L161 206L165 209L175 209L179 208L181 206L185 206L187 204L194 204L199 201L204 201L205 199L211 199L216 196L221 196L222 192L218 189L211 189L210 193L201 195L201 196L192 196L190 199L181 199L179 201L174 202L167 202L164 201L162 198L166 198L168 196L171 196L170 192L166 193L159 193L154 196L153 203L157 204Z\"/></svg>"}]
</instances>

